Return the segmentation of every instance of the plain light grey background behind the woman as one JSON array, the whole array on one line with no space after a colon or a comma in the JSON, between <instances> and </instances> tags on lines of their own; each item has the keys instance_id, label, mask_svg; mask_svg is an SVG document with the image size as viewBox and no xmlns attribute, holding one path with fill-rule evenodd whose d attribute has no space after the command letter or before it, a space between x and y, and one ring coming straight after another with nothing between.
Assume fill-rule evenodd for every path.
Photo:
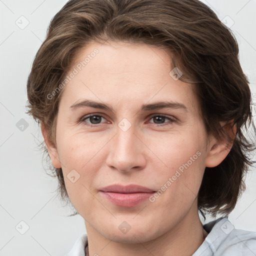
<instances>
[{"instance_id":1,"label":"plain light grey background behind the woman","mask_svg":"<svg viewBox=\"0 0 256 256\"><path fill-rule=\"evenodd\" d=\"M36 147L42 140L40 130L25 114L32 60L50 19L65 2L0 0L0 256L63 255L85 232L81 216L65 216L71 210L62 207L55 196L56 180L45 174L42 152ZM256 104L256 0L203 2L228 25L234 22L230 29L239 43L240 62ZM20 126L24 125L21 118L27 127ZM256 231L255 184L256 167L247 176L246 192L229 216L236 228ZM26 225L29 229L20 234Z\"/></svg>"}]
</instances>

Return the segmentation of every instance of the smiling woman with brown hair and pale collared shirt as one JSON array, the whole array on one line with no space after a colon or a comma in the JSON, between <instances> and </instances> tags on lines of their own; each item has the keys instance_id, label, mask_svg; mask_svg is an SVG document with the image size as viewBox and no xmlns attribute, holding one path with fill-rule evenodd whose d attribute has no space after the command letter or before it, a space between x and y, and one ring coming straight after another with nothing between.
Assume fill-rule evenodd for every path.
<instances>
[{"instance_id":1,"label":"smiling woman with brown hair and pale collared shirt","mask_svg":"<svg viewBox=\"0 0 256 256\"><path fill-rule=\"evenodd\" d=\"M228 220L253 163L249 82L204 3L67 1L27 97L59 193L84 219L68 256L256 254L255 232Z\"/></svg>"}]
</instances>

